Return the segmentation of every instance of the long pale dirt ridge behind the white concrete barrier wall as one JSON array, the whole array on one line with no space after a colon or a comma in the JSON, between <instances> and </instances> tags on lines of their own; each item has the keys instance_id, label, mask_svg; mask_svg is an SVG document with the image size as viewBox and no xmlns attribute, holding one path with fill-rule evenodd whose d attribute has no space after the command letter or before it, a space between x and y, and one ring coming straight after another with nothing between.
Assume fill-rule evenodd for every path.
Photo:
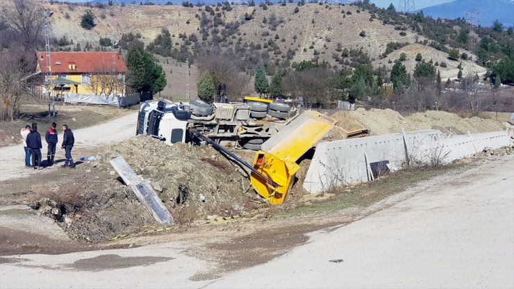
<instances>
[{"instance_id":1,"label":"long pale dirt ridge behind the white concrete barrier wall","mask_svg":"<svg viewBox=\"0 0 514 289\"><path fill-rule=\"evenodd\" d=\"M404 117L395 110L376 109L355 111L339 111L332 115L338 120L338 126L347 131L354 129L370 129L370 135L384 135L405 131L421 131L424 129L439 129L442 133L465 134L503 131L504 125L492 119L479 117L461 118L454 113L427 110L425 113L415 113ZM337 138L338 133L333 132Z\"/></svg>"}]
</instances>

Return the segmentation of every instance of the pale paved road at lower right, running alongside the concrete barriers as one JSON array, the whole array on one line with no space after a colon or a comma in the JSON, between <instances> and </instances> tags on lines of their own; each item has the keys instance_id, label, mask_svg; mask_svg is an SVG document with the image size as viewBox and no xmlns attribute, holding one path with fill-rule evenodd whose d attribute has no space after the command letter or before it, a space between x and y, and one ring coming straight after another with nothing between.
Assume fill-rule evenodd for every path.
<instances>
[{"instance_id":1,"label":"pale paved road at lower right, running alongside the concrete barriers","mask_svg":"<svg viewBox=\"0 0 514 289\"><path fill-rule=\"evenodd\" d=\"M311 240L207 288L514 288L514 157Z\"/></svg>"}]
</instances>

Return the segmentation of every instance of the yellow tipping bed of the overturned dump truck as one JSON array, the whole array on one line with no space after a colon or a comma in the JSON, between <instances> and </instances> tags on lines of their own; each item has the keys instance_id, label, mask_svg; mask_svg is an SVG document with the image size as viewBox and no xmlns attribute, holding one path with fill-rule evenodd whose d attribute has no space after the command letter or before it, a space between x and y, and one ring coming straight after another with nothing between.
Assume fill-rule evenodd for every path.
<instances>
[{"instance_id":1,"label":"yellow tipping bed of the overturned dump truck","mask_svg":"<svg viewBox=\"0 0 514 289\"><path fill-rule=\"evenodd\" d=\"M254 169L278 186L271 186L258 174L250 176L256 192L271 204L282 204L300 169L296 161L328 133L337 120L306 111L263 143L254 158Z\"/></svg>"}]
</instances>

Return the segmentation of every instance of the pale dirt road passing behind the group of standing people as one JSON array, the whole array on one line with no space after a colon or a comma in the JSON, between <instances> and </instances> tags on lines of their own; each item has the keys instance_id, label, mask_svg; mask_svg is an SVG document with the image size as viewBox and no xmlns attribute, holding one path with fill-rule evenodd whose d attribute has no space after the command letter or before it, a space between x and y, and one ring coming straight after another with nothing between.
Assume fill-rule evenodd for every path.
<instances>
[{"instance_id":1,"label":"pale dirt road passing behind the group of standing people","mask_svg":"<svg viewBox=\"0 0 514 289\"><path fill-rule=\"evenodd\" d=\"M109 122L90 126L85 129L73 130L75 136L75 147L73 151L74 160L78 161L81 156L81 149L88 147L98 147L113 140L122 140L135 135L135 123L137 122L137 113L130 113L124 117L113 119ZM60 130L60 128L58 128ZM44 130L40 129L42 138L44 138ZM63 140L63 133L59 131L59 142ZM44 143L44 140L42 140ZM41 149L42 159L46 160L47 147L43 144ZM64 151L57 149L56 160L64 158ZM10 147L3 147L0 149L0 181L9 179L23 178L30 176L34 170L24 166L24 150L23 145L15 145ZM45 170L55 170L56 167L49 167Z\"/></svg>"}]
</instances>

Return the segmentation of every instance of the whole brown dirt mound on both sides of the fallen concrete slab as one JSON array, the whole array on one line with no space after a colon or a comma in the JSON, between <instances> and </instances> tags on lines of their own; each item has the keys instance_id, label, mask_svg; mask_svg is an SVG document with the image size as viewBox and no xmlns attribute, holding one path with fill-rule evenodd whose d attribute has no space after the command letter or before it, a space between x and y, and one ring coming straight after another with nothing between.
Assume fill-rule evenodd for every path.
<instances>
[{"instance_id":1,"label":"whole brown dirt mound on both sides of the fallen concrete slab","mask_svg":"<svg viewBox=\"0 0 514 289\"><path fill-rule=\"evenodd\" d=\"M169 146L140 135L110 145L81 176L58 186L39 186L31 206L81 240L108 240L156 225L110 165L117 156L149 181L177 224L206 222L209 215L239 215L253 197L247 192L248 176L213 147Z\"/></svg>"}]
</instances>

